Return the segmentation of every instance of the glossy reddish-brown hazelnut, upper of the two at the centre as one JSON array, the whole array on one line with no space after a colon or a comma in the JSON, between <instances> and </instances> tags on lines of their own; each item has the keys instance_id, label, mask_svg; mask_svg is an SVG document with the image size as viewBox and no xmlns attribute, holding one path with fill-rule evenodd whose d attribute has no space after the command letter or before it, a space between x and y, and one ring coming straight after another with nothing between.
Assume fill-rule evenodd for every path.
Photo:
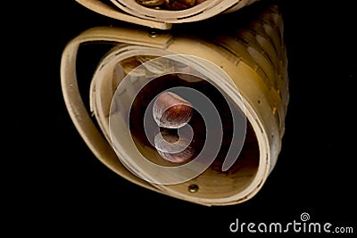
<instances>
[{"instance_id":1,"label":"glossy reddish-brown hazelnut, upper of the two at the centre","mask_svg":"<svg viewBox=\"0 0 357 238\"><path fill-rule=\"evenodd\" d=\"M192 104L178 94L163 92L154 101L153 116L159 127L183 127L192 118L193 113Z\"/></svg>"}]
</instances>

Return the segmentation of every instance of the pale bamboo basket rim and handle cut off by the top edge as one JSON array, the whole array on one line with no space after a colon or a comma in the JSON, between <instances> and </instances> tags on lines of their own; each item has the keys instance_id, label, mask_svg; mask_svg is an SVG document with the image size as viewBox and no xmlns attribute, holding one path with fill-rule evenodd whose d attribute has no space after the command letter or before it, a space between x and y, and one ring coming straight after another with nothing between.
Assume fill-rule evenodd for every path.
<instances>
[{"instance_id":1,"label":"pale bamboo basket rim and handle cut off by the top edge","mask_svg":"<svg viewBox=\"0 0 357 238\"><path fill-rule=\"evenodd\" d=\"M135 0L76 0L88 9L120 21L155 29L170 29L171 23L201 21L221 12L234 12L259 0L205 0L202 4L180 11L158 10L137 4ZM108 1L107 1L108 2Z\"/></svg>"}]
</instances>

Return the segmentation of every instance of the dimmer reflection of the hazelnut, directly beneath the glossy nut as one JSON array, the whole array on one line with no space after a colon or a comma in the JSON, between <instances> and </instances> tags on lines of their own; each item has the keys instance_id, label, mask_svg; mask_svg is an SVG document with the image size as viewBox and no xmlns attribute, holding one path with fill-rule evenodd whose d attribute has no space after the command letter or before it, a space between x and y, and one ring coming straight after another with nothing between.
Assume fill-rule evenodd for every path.
<instances>
[{"instance_id":1,"label":"dimmer reflection of the hazelnut, directly beneath the glossy nut","mask_svg":"<svg viewBox=\"0 0 357 238\"><path fill-rule=\"evenodd\" d=\"M154 139L156 151L160 156L174 163L186 162L193 156L195 150L190 143L187 138L168 132L160 132Z\"/></svg>"}]
</instances>

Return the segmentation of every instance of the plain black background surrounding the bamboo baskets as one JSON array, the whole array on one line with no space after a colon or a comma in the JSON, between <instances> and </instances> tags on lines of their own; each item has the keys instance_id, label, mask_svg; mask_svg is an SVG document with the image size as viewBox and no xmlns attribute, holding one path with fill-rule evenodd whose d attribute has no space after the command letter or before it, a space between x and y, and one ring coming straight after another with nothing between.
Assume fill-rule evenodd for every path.
<instances>
[{"instance_id":1,"label":"plain black background surrounding the bamboo baskets","mask_svg":"<svg viewBox=\"0 0 357 238\"><path fill-rule=\"evenodd\" d=\"M4 100L6 110L10 105L5 141L12 144L5 144L11 148L6 161L14 168L4 173L5 227L46 237L228 237L242 235L228 230L236 218L287 223L308 212L311 222L353 226L356 233L353 1L276 2L288 56L286 134L262 190L227 207L204 207L131 184L97 160L73 126L60 83L64 46L85 29L126 23L75 1L9 6L19 11L4 21L5 44L13 45L3 46L9 52L4 71L14 89L5 90Z\"/></svg>"}]
</instances>

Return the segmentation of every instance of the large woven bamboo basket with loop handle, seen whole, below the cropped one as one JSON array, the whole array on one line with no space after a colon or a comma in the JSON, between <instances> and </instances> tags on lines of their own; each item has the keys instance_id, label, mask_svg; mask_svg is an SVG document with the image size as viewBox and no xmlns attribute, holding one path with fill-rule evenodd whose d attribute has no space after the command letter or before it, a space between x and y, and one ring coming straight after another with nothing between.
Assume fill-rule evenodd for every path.
<instances>
[{"instance_id":1,"label":"large woven bamboo basket with loop handle, seen whole, below the cropped one","mask_svg":"<svg viewBox=\"0 0 357 238\"><path fill-rule=\"evenodd\" d=\"M289 100L283 35L283 20L277 5L269 6L246 28L209 38L182 37L165 31L153 37L145 29L119 27L87 29L73 38L62 53L64 101L89 149L119 176L157 193L205 206L241 203L260 191L275 167L281 149ZM98 62L88 87L87 105L79 93L77 53L81 45L98 42L109 43L112 48ZM202 173L179 183L157 183L147 179L150 176L167 177L160 169L154 170L143 162L145 159L157 160L157 152L140 141L141 135L130 134L128 120L120 120L112 128L111 117L118 111L121 116L128 111L143 111L143 106L147 106L145 98L153 98L162 85L173 82L166 78L162 85L154 84L144 96L137 97L137 92L143 92L144 86L148 85L145 80L149 81L137 75L142 73L137 69L145 65L137 59L148 56L152 59L179 56L182 62L187 60L195 65L195 69L201 69L203 78L207 76L203 81L209 81L221 94L226 94L236 109L244 111L245 140L237 160L227 170L221 169L222 160L217 156ZM192 61L193 57L196 61ZM137 74L128 79L131 72ZM126 84L122 87L124 81ZM186 86L195 83L188 81ZM196 88L203 90L204 86ZM210 91L202 92L209 94ZM114 98L122 106L116 112L112 111ZM137 103L133 103L133 98L139 98ZM135 121L143 123L140 117ZM113 129L118 135L114 138Z\"/></svg>"}]
</instances>

